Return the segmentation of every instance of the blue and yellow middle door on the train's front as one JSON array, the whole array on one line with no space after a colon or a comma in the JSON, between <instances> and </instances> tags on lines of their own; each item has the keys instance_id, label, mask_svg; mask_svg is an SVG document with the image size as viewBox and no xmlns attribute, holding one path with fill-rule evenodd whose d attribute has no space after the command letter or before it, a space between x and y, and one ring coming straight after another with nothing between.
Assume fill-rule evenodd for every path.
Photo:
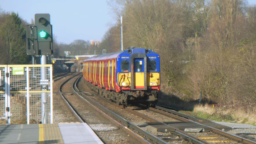
<instances>
[{"instance_id":1,"label":"blue and yellow middle door on the train's front","mask_svg":"<svg viewBox=\"0 0 256 144\"><path fill-rule=\"evenodd\" d=\"M144 88L144 59L135 58L134 64L134 88L143 89Z\"/></svg>"}]
</instances>

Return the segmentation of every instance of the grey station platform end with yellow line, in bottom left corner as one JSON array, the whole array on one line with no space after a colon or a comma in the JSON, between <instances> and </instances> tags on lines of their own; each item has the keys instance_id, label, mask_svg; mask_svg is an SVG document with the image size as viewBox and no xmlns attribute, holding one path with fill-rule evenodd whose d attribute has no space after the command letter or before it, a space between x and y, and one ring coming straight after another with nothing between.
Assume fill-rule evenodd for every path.
<instances>
[{"instance_id":1,"label":"grey station platform end with yellow line, in bottom left corner","mask_svg":"<svg viewBox=\"0 0 256 144\"><path fill-rule=\"evenodd\" d=\"M0 125L0 144L103 144L86 123Z\"/></svg>"}]
</instances>

